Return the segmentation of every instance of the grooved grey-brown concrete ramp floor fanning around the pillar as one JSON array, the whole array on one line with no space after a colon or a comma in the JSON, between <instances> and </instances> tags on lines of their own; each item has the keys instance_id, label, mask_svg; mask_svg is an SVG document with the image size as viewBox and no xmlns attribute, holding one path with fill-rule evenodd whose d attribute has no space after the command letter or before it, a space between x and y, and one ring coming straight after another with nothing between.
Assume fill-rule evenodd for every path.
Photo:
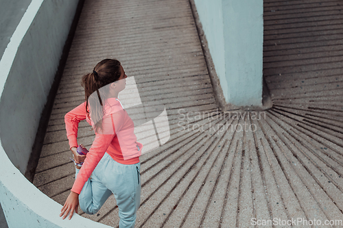
<instances>
[{"instance_id":1,"label":"grooved grey-brown concrete ramp floor fanning around the pillar","mask_svg":"<svg viewBox=\"0 0 343 228\"><path fill-rule=\"evenodd\" d=\"M215 106L188 1L86 1L34 184L64 203L74 169L63 116L84 101L82 75L103 58L117 58L136 79L142 102L167 107L171 129L166 144L141 156L136 227L342 220L341 10L341 1L264 1L263 74L274 106L224 114ZM80 123L78 142L86 147L90 129ZM119 224L113 196L97 214L82 216Z\"/></svg>"}]
</instances>

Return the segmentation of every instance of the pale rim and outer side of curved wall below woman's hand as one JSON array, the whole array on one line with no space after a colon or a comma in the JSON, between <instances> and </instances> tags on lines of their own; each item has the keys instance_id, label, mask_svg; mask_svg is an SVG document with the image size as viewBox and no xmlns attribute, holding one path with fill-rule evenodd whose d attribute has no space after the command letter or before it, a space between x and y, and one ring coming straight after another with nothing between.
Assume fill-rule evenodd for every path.
<instances>
[{"instance_id":1,"label":"pale rim and outer side of curved wall below woman's hand","mask_svg":"<svg viewBox=\"0 0 343 228\"><path fill-rule=\"evenodd\" d=\"M0 201L9 228L108 227L77 214L71 220L62 220L58 216L62 206L30 183L13 166L2 147L0 160Z\"/></svg>"}]
</instances>

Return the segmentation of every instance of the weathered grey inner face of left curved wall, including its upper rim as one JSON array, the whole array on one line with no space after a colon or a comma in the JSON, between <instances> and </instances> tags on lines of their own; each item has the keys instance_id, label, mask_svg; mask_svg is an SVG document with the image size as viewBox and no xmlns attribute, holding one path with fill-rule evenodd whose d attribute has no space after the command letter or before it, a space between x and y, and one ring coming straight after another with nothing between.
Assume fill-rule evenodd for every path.
<instances>
[{"instance_id":1,"label":"weathered grey inner face of left curved wall, including its upper rim","mask_svg":"<svg viewBox=\"0 0 343 228\"><path fill-rule=\"evenodd\" d=\"M0 137L25 173L40 114L54 81L78 0L36 1L27 8L1 58Z\"/></svg>"}]
</instances>

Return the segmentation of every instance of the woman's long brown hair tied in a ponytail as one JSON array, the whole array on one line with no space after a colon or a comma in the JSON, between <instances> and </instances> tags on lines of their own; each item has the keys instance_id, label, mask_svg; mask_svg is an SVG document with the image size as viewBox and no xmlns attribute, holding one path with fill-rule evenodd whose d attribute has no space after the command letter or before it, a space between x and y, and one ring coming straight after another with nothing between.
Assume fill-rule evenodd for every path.
<instances>
[{"instance_id":1,"label":"woman's long brown hair tied in a ponytail","mask_svg":"<svg viewBox=\"0 0 343 228\"><path fill-rule=\"evenodd\" d=\"M121 76L120 65L118 60L105 59L93 68L92 73L88 73L82 77L81 84L84 88L86 113L88 118L93 121L93 129L96 132L99 128L102 129L102 118L104 116L103 102L108 98L109 87L104 86L118 81ZM104 88L99 90L102 87ZM91 117L89 117L90 114Z\"/></svg>"}]
</instances>

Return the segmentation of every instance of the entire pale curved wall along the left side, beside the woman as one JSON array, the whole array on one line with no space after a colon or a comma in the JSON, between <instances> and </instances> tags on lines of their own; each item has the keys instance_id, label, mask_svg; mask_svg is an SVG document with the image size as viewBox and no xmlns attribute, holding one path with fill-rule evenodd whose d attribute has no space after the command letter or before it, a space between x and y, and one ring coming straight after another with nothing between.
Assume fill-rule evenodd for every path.
<instances>
[{"instance_id":1,"label":"entire pale curved wall along the left side, beside the woman","mask_svg":"<svg viewBox=\"0 0 343 228\"><path fill-rule=\"evenodd\" d=\"M75 215L25 173L78 0L32 0L0 60L0 203L8 227L108 227Z\"/></svg>"}]
</instances>

